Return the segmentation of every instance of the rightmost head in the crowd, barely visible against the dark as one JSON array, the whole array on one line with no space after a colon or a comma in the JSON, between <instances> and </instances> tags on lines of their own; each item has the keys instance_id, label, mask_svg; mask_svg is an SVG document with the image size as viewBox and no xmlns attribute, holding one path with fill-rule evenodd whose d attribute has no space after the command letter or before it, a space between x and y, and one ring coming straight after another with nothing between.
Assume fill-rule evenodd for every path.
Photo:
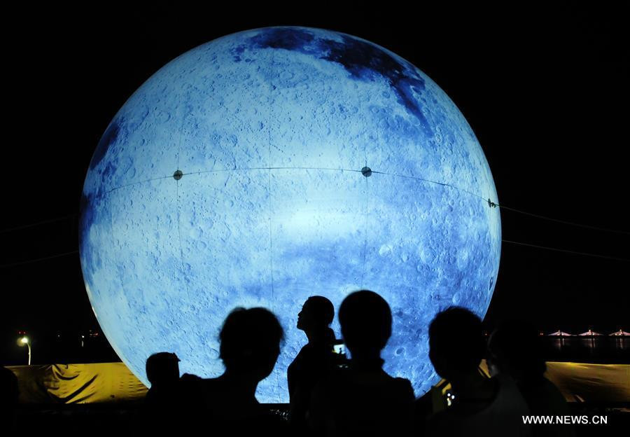
<instances>
[{"instance_id":1,"label":"rightmost head in the crowd, barely visible against the dark","mask_svg":"<svg viewBox=\"0 0 630 437\"><path fill-rule=\"evenodd\" d=\"M487 362L491 375L506 373L517 381L541 378L547 370L540 335L526 321L505 321L493 331Z\"/></svg>"}]
</instances>

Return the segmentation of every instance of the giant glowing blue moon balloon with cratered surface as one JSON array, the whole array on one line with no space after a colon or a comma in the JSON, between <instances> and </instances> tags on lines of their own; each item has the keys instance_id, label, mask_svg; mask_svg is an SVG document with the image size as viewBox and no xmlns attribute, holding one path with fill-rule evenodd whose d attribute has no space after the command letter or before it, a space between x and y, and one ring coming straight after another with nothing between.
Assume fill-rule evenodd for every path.
<instances>
[{"instance_id":1,"label":"giant glowing blue moon balloon with cratered surface","mask_svg":"<svg viewBox=\"0 0 630 437\"><path fill-rule=\"evenodd\" d=\"M286 340L257 396L288 401L304 300L338 308L370 289L393 313L384 368L419 396L437 380L436 312L488 308L491 202L475 134L426 74L355 36L269 27L184 53L116 113L85 178L80 260L99 324L146 384L161 351L220 375L223 319L261 306Z\"/></svg>"}]
</instances>

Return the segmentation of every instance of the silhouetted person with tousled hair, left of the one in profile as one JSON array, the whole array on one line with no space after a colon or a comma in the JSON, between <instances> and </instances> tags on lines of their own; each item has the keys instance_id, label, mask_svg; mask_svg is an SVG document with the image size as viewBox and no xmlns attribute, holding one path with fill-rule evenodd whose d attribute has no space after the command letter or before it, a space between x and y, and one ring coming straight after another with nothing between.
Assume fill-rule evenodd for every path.
<instances>
[{"instance_id":1,"label":"silhouetted person with tousled hair, left of the one in profile","mask_svg":"<svg viewBox=\"0 0 630 437\"><path fill-rule=\"evenodd\" d=\"M283 422L255 398L258 383L276 364L283 329L265 308L237 308L219 334L223 375L191 381L193 400L200 403L202 421L210 435L282 435Z\"/></svg>"}]
</instances>

